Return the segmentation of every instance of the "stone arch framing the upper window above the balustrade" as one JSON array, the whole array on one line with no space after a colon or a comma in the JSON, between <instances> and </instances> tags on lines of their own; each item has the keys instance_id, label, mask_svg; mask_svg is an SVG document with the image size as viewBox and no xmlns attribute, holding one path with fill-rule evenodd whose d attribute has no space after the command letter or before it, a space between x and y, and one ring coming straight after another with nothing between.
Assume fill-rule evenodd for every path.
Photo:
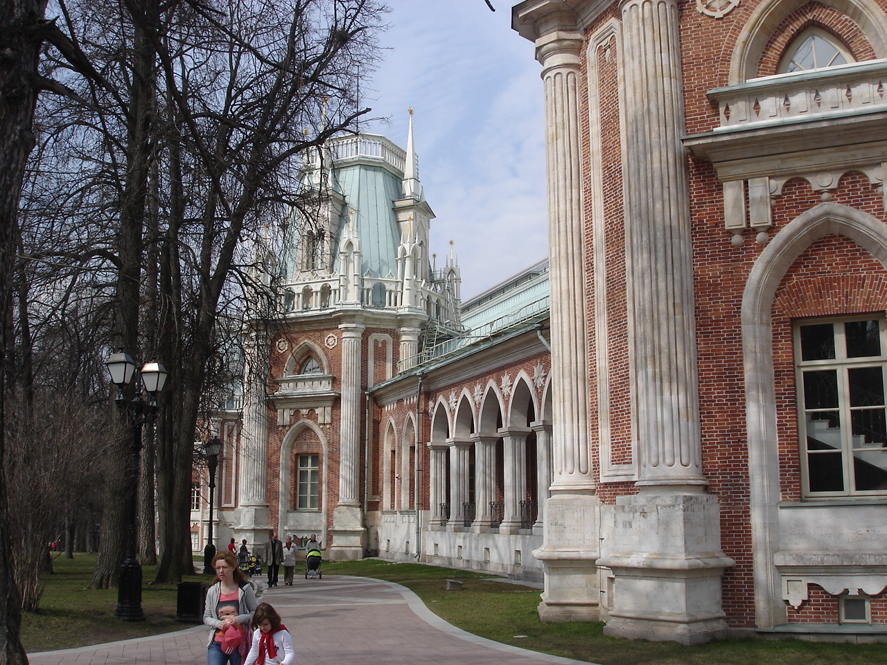
<instances>
[{"instance_id":1,"label":"stone arch framing the upper window above the balustrade","mask_svg":"<svg viewBox=\"0 0 887 665\"><path fill-rule=\"evenodd\" d=\"M819 0L854 21L866 36L875 58L887 57L887 15L871 0ZM767 43L792 12L808 0L767 0L757 6L736 39L730 58L728 85L740 85L758 75Z\"/></svg>"}]
</instances>

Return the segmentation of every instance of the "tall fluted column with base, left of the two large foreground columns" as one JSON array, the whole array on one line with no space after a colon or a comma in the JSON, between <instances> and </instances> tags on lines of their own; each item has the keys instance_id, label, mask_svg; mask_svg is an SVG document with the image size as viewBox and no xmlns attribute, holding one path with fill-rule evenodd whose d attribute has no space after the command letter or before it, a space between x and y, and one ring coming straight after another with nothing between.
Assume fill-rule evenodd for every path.
<instances>
[{"instance_id":1,"label":"tall fluted column with base, left of the two large foreground columns","mask_svg":"<svg viewBox=\"0 0 887 665\"><path fill-rule=\"evenodd\" d=\"M562 3L540 12L574 20ZM516 10L515 10L516 11ZM569 14L569 12L568 12ZM542 23L549 17L540 17ZM541 24L540 24L541 25ZM546 621L599 617L600 503L589 442L589 369L585 321L579 63L582 35L557 29L536 40L546 100L548 256L551 289L553 482L543 545L533 552L546 569L539 616Z\"/></svg>"}]
</instances>

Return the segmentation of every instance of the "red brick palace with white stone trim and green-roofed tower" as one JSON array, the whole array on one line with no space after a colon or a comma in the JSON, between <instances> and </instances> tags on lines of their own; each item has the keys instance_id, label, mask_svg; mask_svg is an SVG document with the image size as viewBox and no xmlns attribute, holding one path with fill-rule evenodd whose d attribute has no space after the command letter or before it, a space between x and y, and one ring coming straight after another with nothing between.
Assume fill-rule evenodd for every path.
<instances>
[{"instance_id":1,"label":"red brick palace with white stone trim and green-roofed tower","mask_svg":"<svg viewBox=\"0 0 887 665\"><path fill-rule=\"evenodd\" d=\"M464 303L412 129L336 139L220 538L536 577L620 637L887 636L885 9L517 4L549 257Z\"/></svg>"}]
</instances>

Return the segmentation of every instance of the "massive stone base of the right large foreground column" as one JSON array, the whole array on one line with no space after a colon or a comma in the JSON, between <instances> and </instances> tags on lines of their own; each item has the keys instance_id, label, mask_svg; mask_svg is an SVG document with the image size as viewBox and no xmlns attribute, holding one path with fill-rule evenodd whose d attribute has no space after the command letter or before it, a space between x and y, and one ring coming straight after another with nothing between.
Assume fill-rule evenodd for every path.
<instances>
[{"instance_id":1,"label":"massive stone base of the right large foreground column","mask_svg":"<svg viewBox=\"0 0 887 665\"><path fill-rule=\"evenodd\" d=\"M726 636L718 500L642 491L616 500L615 552L598 559L614 575L604 635L695 645Z\"/></svg>"}]
</instances>

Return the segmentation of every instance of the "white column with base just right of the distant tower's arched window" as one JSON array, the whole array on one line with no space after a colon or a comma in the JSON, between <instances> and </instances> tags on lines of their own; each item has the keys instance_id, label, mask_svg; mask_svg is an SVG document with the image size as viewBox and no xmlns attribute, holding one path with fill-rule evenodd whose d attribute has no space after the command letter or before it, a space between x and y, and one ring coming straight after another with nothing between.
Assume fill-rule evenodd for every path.
<instances>
[{"instance_id":1,"label":"white column with base just right of the distant tower's arched window","mask_svg":"<svg viewBox=\"0 0 887 665\"><path fill-rule=\"evenodd\" d=\"M330 557L360 559L365 527L360 505L360 418L363 407L364 326L357 322L339 325L341 331L341 426L339 430L339 504L333 514L333 547Z\"/></svg>"}]
</instances>

